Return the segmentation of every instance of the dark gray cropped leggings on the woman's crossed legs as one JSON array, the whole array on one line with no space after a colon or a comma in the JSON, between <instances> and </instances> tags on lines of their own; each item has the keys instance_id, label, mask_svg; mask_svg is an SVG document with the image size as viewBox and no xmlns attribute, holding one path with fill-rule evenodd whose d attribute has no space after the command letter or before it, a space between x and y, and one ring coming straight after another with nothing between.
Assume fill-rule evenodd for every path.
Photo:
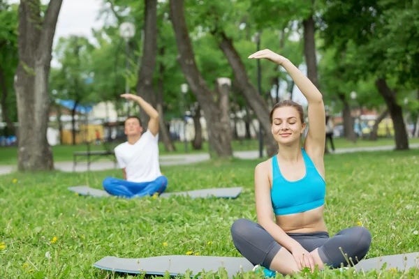
<instances>
[{"instance_id":1,"label":"dark gray cropped leggings on the woman's crossed legs","mask_svg":"<svg viewBox=\"0 0 419 279\"><path fill-rule=\"evenodd\" d=\"M281 249L279 243L262 226L251 220L236 220L231 226L231 236L235 248L243 257L253 265L260 264L267 269ZM367 255L371 244L371 234L365 227L349 227L332 237L329 237L328 232L290 233L288 236L295 239L308 252L318 248L318 255L323 264L332 268L338 268L341 264L348 265L341 250L348 259L352 258L353 263L357 264Z\"/></svg>"}]
</instances>

